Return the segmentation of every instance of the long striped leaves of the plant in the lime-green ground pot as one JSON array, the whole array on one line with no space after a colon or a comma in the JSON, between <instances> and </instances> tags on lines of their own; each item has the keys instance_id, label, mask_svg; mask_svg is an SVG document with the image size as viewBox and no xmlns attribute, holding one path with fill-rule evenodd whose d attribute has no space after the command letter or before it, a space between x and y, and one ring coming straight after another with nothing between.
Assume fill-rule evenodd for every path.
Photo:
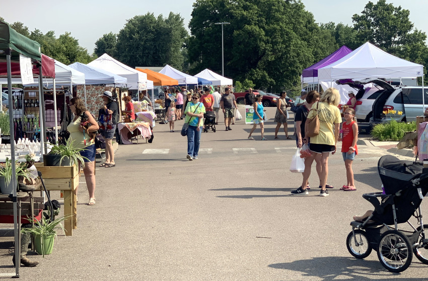
<instances>
[{"instance_id":1,"label":"long striped leaves of the plant in the lime-green ground pot","mask_svg":"<svg viewBox=\"0 0 428 281\"><path fill-rule=\"evenodd\" d=\"M55 220L51 221L50 219L46 219L44 216L37 221L34 221L34 227L24 227L21 228L21 233L29 233L32 234L34 237L36 235L40 235L40 244L42 245L42 255L45 256L44 253L44 243L43 243L43 236L48 236L51 234L54 234L56 237L56 230L61 229L62 232L65 235L65 229L64 226L61 224L62 221L67 219L72 215L62 216L59 218L56 218ZM29 220L29 219L28 219ZM31 220L29 220L31 222Z\"/></svg>"}]
</instances>

